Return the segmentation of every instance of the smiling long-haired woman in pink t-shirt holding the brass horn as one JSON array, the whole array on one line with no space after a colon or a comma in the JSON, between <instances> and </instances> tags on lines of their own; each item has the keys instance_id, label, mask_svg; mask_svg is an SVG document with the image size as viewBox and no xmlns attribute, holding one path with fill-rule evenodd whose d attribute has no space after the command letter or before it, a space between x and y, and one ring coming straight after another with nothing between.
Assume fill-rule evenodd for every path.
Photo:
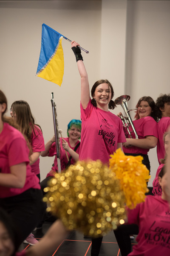
<instances>
[{"instance_id":1,"label":"smiling long-haired woman in pink t-shirt holding the brass horn","mask_svg":"<svg viewBox=\"0 0 170 256\"><path fill-rule=\"evenodd\" d=\"M135 138L132 127L129 127L132 138L130 138L127 129L125 128L126 143L123 143L123 151L126 155L142 155L144 158L143 164L150 171L150 162L147 152L150 148L157 145L157 108L154 100L150 96L144 96L139 99L136 105L137 111L133 125L138 134Z\"/></svg>"}]
</instances>

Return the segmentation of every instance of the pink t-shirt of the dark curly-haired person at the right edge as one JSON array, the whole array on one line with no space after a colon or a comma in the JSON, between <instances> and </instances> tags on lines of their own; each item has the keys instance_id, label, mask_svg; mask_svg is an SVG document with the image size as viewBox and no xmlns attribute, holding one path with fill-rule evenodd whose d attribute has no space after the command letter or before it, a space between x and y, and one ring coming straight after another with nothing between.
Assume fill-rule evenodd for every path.
<instances>
[{"instance_id":1,"label":"pink t-shirt of the dark curly-haired person at the right edge","mask_svg":"<svg viewBox=\"0 0 170 256\"><path fill-rule=\"evenodd\" d=\"M167 131L168 126L170 125L170 117L162 117L158 122L158 143L157 143L157 156L159 164L161 164L160 159L164 159L165 149L163 135Z\"/></svg>"}]
</instances>

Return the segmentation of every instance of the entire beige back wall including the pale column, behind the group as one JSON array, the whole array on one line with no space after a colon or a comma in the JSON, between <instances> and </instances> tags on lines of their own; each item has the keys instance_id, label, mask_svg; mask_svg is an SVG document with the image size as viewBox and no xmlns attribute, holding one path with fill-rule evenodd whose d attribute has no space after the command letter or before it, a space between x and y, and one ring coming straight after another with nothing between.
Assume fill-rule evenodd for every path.
<instances>
[{"instance_id":1,"label":"entire beige back wall including the pale column, behind the group","mask_svg":"<svg viewBox=\"0 0 170 256\"><path fill-rule=\"evenodd\" d=\"M114 98L124 93L131 96L130 108L141 96L156 100L160 93L169 92L170 1L0 1L0 88L6 93L8 108L17 99L28 101L45 142L54 133L51 92L57 102L59 128L66 136L68 122L80 118L80 79L65 39L62 86L35 76L42 23L87 49L89 54L82 55L91 86L100 78L109 79ZM158 167L154 149L150 160L152 185ZM52 163L49 157L40 158L42 179Z\"/></svg>"}]
</instances>

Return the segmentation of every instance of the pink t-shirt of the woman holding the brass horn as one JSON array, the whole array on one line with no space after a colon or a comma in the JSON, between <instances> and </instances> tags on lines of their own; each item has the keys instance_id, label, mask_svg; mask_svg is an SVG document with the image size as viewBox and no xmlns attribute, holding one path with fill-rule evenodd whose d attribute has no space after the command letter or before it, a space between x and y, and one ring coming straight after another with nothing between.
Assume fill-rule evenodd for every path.
<instances>
[{"instance_id":1,"label":"pink t-shirt of the woman holding the brass horn","mask_svg":"<svg viewBox=\"0 0 170 256\"><path fill-rule=\"evenodd\" d=\"M144 139L146 136L154 136L158 138L157 122L153 119L153 117L146 116L141 119L134 120L133 125L138 134L139 139ZM131 125L129 126L129 130L133 131ZM130 135L128 134L126 128L125 128L125 136L126 138L130 138ZM133 139L136 138L134 132L131 133L131 136ZM131 154L147 154L149 149L138 148L138 147L130 147L130 148L123 147L123 151L124 153L131 153Z\"/></svg>"}]
</instances>

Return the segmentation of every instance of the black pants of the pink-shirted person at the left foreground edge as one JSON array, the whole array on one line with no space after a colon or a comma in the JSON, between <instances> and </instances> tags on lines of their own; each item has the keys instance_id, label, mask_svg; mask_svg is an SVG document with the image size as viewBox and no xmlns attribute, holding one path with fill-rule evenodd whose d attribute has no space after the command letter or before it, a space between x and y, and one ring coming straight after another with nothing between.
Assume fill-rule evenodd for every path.
<instances>
[{"instance_id":1,"label":"black pants of the pink-shirted person at the left foreground edge","mask_svg":"<svg viewBox=\"0 0 170 256\"><path fill-rule=\"evenodd\" d=\"M40 189L28 189L20 195L0 198L0 206L5 209L14 221L20 236L17 246L37 227L44 211Z\"/></svg>"}]
</instances>

